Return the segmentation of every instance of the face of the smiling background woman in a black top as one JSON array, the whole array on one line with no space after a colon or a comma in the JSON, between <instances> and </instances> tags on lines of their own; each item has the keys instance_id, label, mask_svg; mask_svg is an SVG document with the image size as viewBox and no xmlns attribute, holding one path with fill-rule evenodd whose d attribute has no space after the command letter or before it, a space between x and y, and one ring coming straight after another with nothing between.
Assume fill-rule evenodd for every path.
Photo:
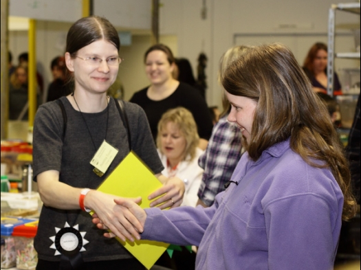
<instances>
[{"instance_id":1,"label":"face of the smiling background woman in a black top","mask_svg":"<svg viewBox=\"0 0 361 270\"><path fill-rule=\"evenodd\" d=\"M162 85L172 78L174 64L168 62L166 53L160 50L149 52L145 61L146 76L152 85Z\"/></svg>"}]
</instances>

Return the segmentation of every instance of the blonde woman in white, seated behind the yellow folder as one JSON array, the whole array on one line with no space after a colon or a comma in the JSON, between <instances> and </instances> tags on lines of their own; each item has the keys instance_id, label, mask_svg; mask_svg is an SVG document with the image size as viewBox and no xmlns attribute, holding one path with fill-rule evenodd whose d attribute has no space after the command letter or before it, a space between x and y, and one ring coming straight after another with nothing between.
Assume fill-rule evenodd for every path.
<instances>
[{"instance_id":1,"label":"blonde woman in white, seated behind the yellow folder","mask_svg":"<svg viewBox=\"0 0 361 270\"><path fill-rule=\"evenodd\" d=\"M198 166L203 150L192 113L183 107L166 111L158 124L157 148L164 166L162 175L184 181L182 205L195 206L203 169Z\"/></svg>"}]
</instances>

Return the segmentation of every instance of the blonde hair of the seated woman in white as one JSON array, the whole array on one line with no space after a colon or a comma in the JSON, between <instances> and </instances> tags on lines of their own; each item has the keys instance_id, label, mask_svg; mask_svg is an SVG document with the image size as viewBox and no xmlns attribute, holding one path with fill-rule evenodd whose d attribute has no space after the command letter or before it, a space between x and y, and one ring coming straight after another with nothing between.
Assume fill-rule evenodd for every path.
<instances>
[{"instance_id":1,"label":"blonde hair of the seated woman in white","mask_svg":"<svg viewBox=\"0 0 361 270\"><path fill-rule=\"evenodd\" d=\"M190 155L190 159L193 159L195 157L196 148L199 144L199 135L197 131L197 124L195 124L195 119L192 113L184 107L169 109L162 115L160 122L158 122L157 148L162 149L162 130L169 122L175 124L179 128L180 133L182 133L182 135L186 138L184 159L186 159L188 155Z\"/></svg>"}]
</instances>

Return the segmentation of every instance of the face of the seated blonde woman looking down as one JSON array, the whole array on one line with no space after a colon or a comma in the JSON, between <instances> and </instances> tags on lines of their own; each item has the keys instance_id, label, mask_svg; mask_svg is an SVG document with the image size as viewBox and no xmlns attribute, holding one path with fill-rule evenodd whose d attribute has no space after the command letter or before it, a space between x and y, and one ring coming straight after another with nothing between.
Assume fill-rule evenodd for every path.
<instances>
[{"instance_id":1,"label":"face of the seated blonde woman looking down","mask_svg":"<svg viewBox=\"0 0 361 270\"><path fill-rule=\"evenodd\" d=\"M173 122L164 124L160 132L160 150L171 163L178 164L184 159L186 137Z\"/></svg>"}]
</instances>

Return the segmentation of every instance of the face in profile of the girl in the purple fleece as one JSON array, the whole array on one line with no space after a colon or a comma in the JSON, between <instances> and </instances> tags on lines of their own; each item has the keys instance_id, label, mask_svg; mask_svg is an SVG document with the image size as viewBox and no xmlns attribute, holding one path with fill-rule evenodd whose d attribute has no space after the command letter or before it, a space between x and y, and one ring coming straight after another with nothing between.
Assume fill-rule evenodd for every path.
<instances>
[{"instance_id":1,"label":"face in profile of the girl in the purple fleece","mask_svg":"<svg viewBox=\"0 0 361 270\"><path fill-rule=\"evenodd\" d=\"M228 121L234 122L241 129L242 135L250 142L252 134L252 124L254 111L256 110L257 102L250 98L245 98L239 95L232 95L226 91L226 96L231 104Z\"/></svg>"}]
</instances>

